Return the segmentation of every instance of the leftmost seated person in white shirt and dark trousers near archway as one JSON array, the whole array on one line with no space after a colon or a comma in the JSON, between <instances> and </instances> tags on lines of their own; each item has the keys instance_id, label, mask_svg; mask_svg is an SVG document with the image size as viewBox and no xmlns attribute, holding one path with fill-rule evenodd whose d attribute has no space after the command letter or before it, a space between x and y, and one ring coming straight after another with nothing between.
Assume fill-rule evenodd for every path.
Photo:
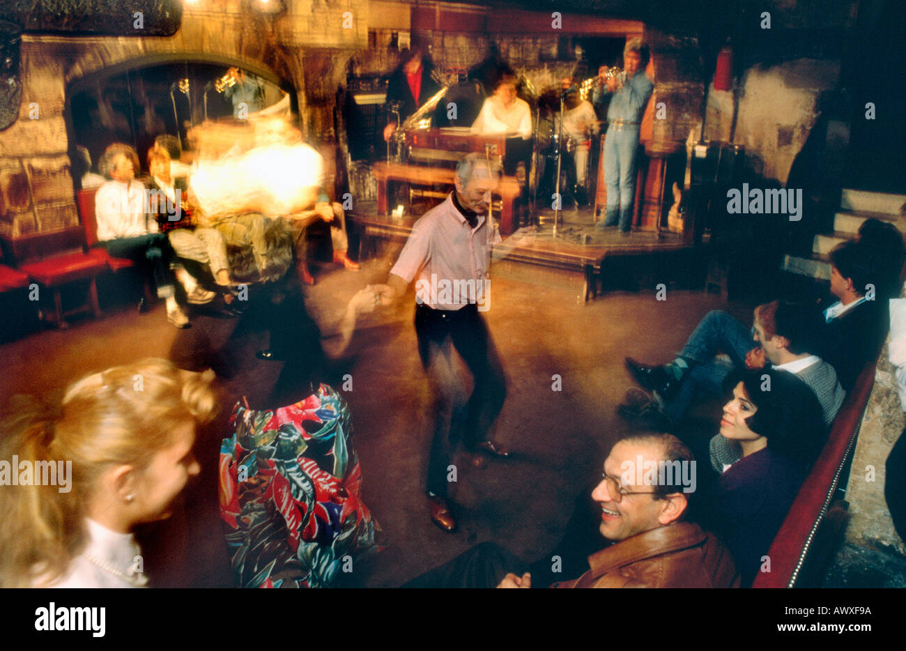
<instances>
[{"instance_id":1,"label":"leftmost seated person in white shirt and dark trousers near archway","mask_svg":"<svg viewBox=\"0 0 906 651\"><path fill-rule=\"evenodd\" d=\"M148 213L145 186L135 180L139 156L119 142L104 151L101 170L111 180L94 197L94 217L98 225L98 244L112 257L129 258L154 276L158 296L165 298L167 318L177 327L187 327L188 317L178 306L172 270L176 254L169 239L158 232L157 222ZM143 309L143 303L140 305Z\"/></svg>"}]
</instances>

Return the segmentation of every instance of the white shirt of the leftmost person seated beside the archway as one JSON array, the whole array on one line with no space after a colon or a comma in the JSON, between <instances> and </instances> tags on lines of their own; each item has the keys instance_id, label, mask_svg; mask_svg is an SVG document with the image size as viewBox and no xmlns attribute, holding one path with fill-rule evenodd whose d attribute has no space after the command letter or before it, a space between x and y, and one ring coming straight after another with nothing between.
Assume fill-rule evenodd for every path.
<instances>
[{"instance_id":1,"label":"white shirt of the leftmost person seated beside the archway","mask_svg":"<svg viewBox=\"0 0 906 651\"><path fill-rule=\"evenodd\" d=\"M147 219L148 195L138 180L120 183L109 180L94 195L94 217L98 240L138 238L158 231L157 222Z\"/></svg>"}]
</instances>

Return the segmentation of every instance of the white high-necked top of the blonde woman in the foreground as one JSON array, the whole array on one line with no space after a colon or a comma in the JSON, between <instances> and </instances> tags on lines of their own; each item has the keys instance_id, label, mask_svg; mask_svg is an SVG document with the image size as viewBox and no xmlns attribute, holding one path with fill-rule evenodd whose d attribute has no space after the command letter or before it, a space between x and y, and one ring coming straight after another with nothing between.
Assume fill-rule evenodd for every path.
<instances>
[{"instance_id":1,"label":"white high-necked top of the blonde woman in the foreground","mask_svg":"<svg viewBox=\"0 0 906 651\"><path fill-rule=\"evenodd\" d=\"M129 576L131 569L136 568L136 557L141 549L130 533L119 533L101 526L94 520L85 519L85 530L88 541L82 553L69 564L63 578L48 583L42 578L34 581L35 588L136 588L125 578L120 578L108 568ZM89 560L88 557L92 557Z\"/></svg>"}]
</instances>

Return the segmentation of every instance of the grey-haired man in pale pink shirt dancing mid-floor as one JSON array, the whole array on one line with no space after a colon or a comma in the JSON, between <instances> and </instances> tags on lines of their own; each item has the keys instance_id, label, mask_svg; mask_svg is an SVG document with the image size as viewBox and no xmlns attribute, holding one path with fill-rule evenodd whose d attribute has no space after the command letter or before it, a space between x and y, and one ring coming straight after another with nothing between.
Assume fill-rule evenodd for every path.
<instances>
[{"instance_id":1,"label":"grey-haired man in pale pink shirt dancing mid-floor","mask_svg":"<svg viewBox=\"0 0 906 651\"><path fill-rule=\"evenodd\" d=\"M448 532L456 529L447 496L451 444L461 439L469 450L509 456L506 448L487 438L506 399L506 380L481 316L490 300L491 247L499 238L487 216L498 181L496 170L488 168L482 154L467 154L457 166L456 190L415 223L387 284L372 287L387 305L416 280L419 355L443 398L431 444L429 508L431 520ZM457 372L451 347L474 379L467 401L467 386Z\"/></svg>"}]
</instances>

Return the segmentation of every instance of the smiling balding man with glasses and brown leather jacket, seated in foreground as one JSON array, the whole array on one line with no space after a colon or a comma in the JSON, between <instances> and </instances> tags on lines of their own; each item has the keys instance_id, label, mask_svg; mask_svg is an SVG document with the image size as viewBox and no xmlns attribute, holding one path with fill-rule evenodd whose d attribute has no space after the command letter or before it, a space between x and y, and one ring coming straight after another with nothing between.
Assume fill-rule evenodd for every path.
<instances>
[{"instance_id":1,"label":"smiling balding man with glasses and brown leather jacket, seated in foreground","mask_svg":"<svg viewBox=\"0 0 906 651\"><path fill-rule=\"evenodd\" d=\"M738 587L727 549L699 525L683 521L696 487L695 470L692 453L670 434L638 433L617 442L592 491L600 507L598 530L613 544L588 557L580 577L552 587ZM545 566L549 571L551 563L552 557L545 557L525 567L506 549L483 543L407 587L531 588L533 574Z\"/></svg>"}]
</instances>

